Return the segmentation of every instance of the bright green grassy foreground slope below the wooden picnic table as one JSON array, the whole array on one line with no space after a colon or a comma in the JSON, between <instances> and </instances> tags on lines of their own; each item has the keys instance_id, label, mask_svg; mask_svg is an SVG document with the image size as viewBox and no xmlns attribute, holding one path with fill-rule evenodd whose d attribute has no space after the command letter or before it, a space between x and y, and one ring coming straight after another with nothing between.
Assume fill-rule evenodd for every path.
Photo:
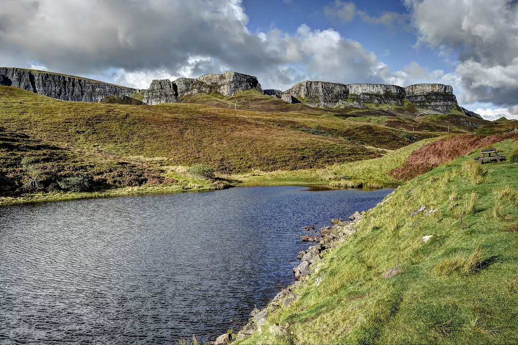
<instances>
[{"instance_id":1,"label":"bright green grassy foreground slope below the wooden picnic table","mask_svg":"<svg viewBox=\"0 0 518 345\"><path fill-rule=\"evenodd\" d=\"M515 140L494 144L505 162L481 165L477 149L399 187L240 343L515 343Z\"/></svg>"}]
</instances>

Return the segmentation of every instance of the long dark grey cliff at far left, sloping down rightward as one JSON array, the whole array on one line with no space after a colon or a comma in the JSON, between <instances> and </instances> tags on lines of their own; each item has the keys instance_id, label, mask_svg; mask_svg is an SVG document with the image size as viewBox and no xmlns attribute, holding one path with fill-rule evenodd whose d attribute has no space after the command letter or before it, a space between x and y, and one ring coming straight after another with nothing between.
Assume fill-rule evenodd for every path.
<instances>
[{"instance_id":1,"label":"long dark grey cliff at far left, sloping down rightward","mask_svg":"<svg viewBox=\"0 0 518 345\"><path fill-rule=\"evenodd\" d=\"M0 68L0 85L15 86L39 95L67 101L98 102L105 96L130 96L138 89L21 68Z\"/></svg>"}]
</instances>

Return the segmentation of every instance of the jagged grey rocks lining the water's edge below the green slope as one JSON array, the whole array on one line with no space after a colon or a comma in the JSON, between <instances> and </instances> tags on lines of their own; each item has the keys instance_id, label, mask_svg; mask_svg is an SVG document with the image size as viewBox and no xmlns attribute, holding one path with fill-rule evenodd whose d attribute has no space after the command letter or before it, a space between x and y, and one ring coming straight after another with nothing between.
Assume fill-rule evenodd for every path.
<instances>
[{"instance_id":1,"label":"jagged grey rocks lining the water's edge below the green slope","mask_svg":"<svg viewBox=\"0 0 518 345\"><path fill-rule=\"evenodd\" d=\"M293 302L295 302L299 296L296 293L294 293L293 290L306 284L307 276L313 273L312 265L322 260L322 256L324 256L324 254L330 248L337 247L340 243L346 241L348 236L356 233L359 227L358 222L363 219L364 214L365 211L356 211L354 214L349 216L349 219L346 221L342 221L339 218L333 218L331 220L331 223L333 224L332 226L327 226L320 229L321 237L311 237L309 235L298 236L301 237L303 241L318 244L310 246L307 250L298 252L297 259L300 260L300 264L293 267L295 283L287 287L286 289L281 290L265 308L255 308L254 310L252 310L252 312L250 313L250 318L248 319L248 323L243 326L243 328L241 329L241 331L237 333L235 338L232 336L232 334L227 332L220 335L214 342L209 342L207 344L223 345L231 343L233 341L245 339L252 335L258 329L260 329L266 323L268 312L275 311L282 307L287 307ZM312 230L314 229L314 226L303 227L302 229ZM317 286L321 280L321 278L319 278L320 277L316 278ZM287 334L286 329L280 325L270 325L269 330L271 333L275 335Z\"/></svg>"}]
</instances>

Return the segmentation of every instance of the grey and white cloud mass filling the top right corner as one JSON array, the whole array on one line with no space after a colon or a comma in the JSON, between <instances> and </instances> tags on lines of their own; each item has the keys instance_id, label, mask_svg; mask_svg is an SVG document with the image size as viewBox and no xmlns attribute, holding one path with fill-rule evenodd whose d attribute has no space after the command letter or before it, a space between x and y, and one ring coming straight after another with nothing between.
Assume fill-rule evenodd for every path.
<instances>
[{"instance_id":1,"label":"grey and white cloud mass filling the top right corner","mask_svg":"<svg viewBox=\"0 0 518 345\"><path fill-rule=\"evenodd\" d=\"M507 0L405 0L418 44L458 52L455 74L467 103L518 105L518 3Z\"/></svg>"}]
</instances>

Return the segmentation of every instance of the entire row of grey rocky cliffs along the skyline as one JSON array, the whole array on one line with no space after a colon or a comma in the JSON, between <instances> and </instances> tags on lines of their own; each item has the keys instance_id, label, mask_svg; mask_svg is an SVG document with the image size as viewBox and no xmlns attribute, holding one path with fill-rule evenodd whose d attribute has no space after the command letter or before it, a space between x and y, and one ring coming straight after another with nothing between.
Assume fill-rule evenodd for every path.
<instances>
[{"instance_id":1,"label":"entire row of grey rocky cliffs along the skyline","mask_svg":"<svg viewBox=\"0 0 518 345\"><path fill-rule=\"evenodd\" d=\"M112 95L128 97L141 91L65 74L6 67L0 67L0 85L16 86L57 99L84 102L99 102ZM466 116L482 119L479 114L459 106L450 85L415 84L401 87L304 81L286 91L263 90L256 77L233 71L205 74L198 78L178 78L174 81L153 80L144 94L143 103L178 102L182 98L211 93L232 96L251 89L290 104L303 103L313 108L353 110L366 109L372 104L401 107L410 102L423 110L422 113L448 114L456 110Z\"/></svg>"}]
</instances>

